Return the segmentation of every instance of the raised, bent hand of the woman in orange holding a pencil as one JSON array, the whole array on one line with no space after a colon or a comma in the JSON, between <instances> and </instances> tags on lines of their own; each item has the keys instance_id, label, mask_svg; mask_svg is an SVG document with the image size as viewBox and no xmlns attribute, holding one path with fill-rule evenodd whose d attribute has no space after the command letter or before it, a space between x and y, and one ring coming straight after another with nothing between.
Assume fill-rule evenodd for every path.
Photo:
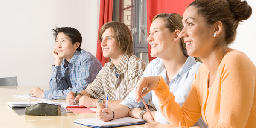
<instances>
[{"instance_id":1,"label":"raised, bent hand of the woman in orange holding a pencil","mask_svg":"<svg viewBox=\"0 0 256 128\"><path fill-rule=\"evenodd\" d=\"M156 89L160 78L161 76L141 77L135 90L135 94L136 94L135 102L140 102L140 95L144 97L148 92ZM143 90L143 88L145 88L145 90Z\"/></svg>"}]
</instances>

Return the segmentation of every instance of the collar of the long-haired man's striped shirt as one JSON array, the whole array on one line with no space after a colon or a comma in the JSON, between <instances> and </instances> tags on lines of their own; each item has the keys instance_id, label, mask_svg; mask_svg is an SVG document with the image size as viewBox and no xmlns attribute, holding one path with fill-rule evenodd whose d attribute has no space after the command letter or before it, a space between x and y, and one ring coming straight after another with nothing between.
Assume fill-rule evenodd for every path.
<instances>
[{"instance_id":1,"label":"collar of the long-haired man's striped shirt","mask_svg":"<svg viewBox=\"0 0 256 128\"><path fill-rule=\"evenodd\" d=\"M121 71L122 73L125 73L126 70L127 70L127 67L128 67L128 62L129 62L129 58L130 58L130 55L128 54L124 54L118 64L118 67L116 68L116 70L119 70ZM115 65L113 64L112 61L110 61L110 64L109 64L109 68L110 69L114 69Z\"/></svg>"}]
</instances>

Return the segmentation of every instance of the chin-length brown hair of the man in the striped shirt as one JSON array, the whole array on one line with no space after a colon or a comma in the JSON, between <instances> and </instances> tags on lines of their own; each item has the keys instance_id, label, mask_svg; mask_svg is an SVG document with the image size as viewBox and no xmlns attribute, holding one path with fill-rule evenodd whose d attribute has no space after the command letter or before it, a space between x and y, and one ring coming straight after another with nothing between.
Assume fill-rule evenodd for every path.
<instances>
[{"instance_id":1,"label":"chin-length brown hair of the man in the striped shirt","mask_svg":"<svg viewBox=\"0 0 256 128\"><path fill-rule=\"evenodd\" d=\"M99 41L101 42L102 34L106 29L111 28L113 38L116 39L118 50L125 54L132 54L132 36L131 31L127 25L118 21L111 21L105 23L99 31Z\"/></svg>"}]
</instances>

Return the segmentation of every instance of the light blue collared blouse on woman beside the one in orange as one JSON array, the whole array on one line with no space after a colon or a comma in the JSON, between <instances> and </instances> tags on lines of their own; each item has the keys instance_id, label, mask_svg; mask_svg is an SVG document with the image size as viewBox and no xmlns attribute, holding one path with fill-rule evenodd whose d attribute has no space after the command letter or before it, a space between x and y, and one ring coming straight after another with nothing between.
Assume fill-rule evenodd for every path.
<instances>
[{"instance_id":1,"label":"light blue collared blouse on woman beside the one in orange","mask_svg":"<svg viewBox=\"0 0 256 128\"><path fill-rule=\"evenodd\" d=\"M179 72L170 80L169 88L170 91L175 96L175 101L181 106L185 102L186 97L189 94L192 81L195 77L195 73L197 72L201 62L195 61L194 57L188 57L183 67L179 70ZM146 67L143 75L141 77L147 76L159 76L161 75L166 82L166 68L163 64L161 58L156 58L152 60L148 66ZM148 93L143 99L145 102L152 97L153 104L155 105L157 111L155 113L155 119L160 123L169 123L164 116L160 113L158 108L158 100L154 91ZM135 102L135 88L129 93L129 95L121 102L121 104L133 108L143 108L143 102L137 103Z\"/></svg>"}]
</instances>

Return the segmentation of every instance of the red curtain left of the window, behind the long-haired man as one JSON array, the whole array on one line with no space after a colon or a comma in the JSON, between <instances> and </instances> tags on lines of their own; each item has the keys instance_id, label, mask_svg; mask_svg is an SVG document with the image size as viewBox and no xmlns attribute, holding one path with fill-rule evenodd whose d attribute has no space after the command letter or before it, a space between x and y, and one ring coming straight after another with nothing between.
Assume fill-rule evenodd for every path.
<instances>
[{"instance_id":1,"label":"red curtain left of the window, behind the long-haired man","mask_svg":"<svg viewBox=\"0 0 256 128\"><path fill-rule=\"evenodd\" d=\"M112 14L113 14L113 0L100 0L98 37L99 37L99 31L102 28L102 26L105 23L112 21ZM109 58L105 58L102 55L102 48L100 47L99 38L97 43L96 58L102 63L102 66L104 66L105 63L109 62Z\"/></svg>"}]
</instances>

